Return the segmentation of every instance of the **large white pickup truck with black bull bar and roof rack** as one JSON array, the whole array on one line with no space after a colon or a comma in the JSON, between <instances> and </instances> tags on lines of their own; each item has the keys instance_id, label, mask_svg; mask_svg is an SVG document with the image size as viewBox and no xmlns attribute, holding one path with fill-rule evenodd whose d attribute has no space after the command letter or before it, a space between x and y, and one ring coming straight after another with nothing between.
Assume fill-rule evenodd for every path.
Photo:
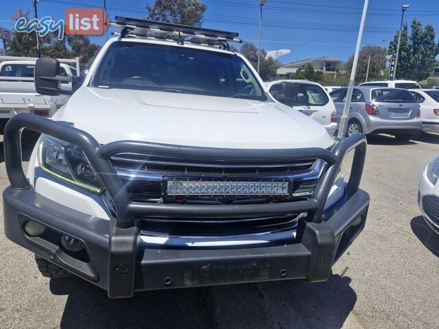
<instances>
[{"instance_id":1,"label":"large white pickup truck with black bull bar and roof rack","mask_svg":"<svg viewBox=\"0 0 439 329\"><path fill-rule=\"evenodd\" d=\"M8 239L36 254L44 276L74 274L109 297L327 280L366 223L365 136L334 141L274 101L230 50L236 33L118 16L111 25L119 38L51 120L17 114L5 128ZM39 93L64 92L59 66L36 62ZM23 127L42 133L27 175Z\"/></svg>"}]
</instances>

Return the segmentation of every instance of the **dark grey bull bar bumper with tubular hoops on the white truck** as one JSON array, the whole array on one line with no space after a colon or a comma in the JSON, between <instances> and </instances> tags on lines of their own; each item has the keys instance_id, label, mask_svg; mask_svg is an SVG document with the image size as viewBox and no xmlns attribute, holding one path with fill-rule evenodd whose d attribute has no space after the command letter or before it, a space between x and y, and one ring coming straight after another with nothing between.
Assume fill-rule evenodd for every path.
<instances>
[{"instance_id":1,"label":"dark grey bull bar bumper with tubular hoops on the white truck","mask_svg":"<svg viewBox=\"0 0 439 329\"><path fill-rule=\"evenodd\" d=\"M99 175L112 198L117 218L110 222L84 215L38 195L21 168L20 136L24 127L78 145ZM356 134L327 149L214 149L121 141L99 145L81 130L33 114L17 114L4 134L6 169L11 186L3 193L5 234L51 262L97 284L109 297L130 297L134 291L195 287L210 284L306 278L327 280L331 266L357 237L366 221L368 194L359 190L366 156L366 138ZM355 149L345 197L324 214L324 203L345 154ZM180 158L213 159L222 162L258 163L271 159L327 163L313 197L302 202L257 205L172 205L131 202L128 191L109 162L121 152L161 154ZM300 219L296 243L242 249L146 249L141 244L136 217L179 214L197 217L282 215L307 212ZM37 221L54 234L80 239L88 261L64 252L57 243L28 236L23 225ZM325 220L323 220L325 219Z\"/></svg>"}]
</instances>

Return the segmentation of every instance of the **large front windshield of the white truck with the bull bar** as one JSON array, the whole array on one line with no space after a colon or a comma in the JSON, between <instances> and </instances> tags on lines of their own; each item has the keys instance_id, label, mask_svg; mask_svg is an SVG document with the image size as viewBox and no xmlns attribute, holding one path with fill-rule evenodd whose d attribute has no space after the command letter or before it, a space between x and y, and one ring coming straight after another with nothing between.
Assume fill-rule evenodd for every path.
<instances>
[{"instance_id":1,"label":"large front windshield of the white truck with the bull bar","mask_svg":"<svg viewBox=\"0 0 439 329\"><path fill-rule=\"evenodd\" d=\"M267 99L239 56L141 42L113 42L91 86Z\"/></svg>"}]
</instances>

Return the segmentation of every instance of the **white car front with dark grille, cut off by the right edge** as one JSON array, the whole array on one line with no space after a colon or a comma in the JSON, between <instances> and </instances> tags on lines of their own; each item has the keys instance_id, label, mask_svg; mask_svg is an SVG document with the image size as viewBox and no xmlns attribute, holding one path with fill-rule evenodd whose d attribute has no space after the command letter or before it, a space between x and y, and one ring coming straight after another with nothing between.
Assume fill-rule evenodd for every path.
<instances>
[{"instance_id":1,"label":"white car front with dark grille, cut off by the right edge","mask_svg":"<svg viewBox=\"0 0 439 329\"><path fill-rule=\"evenodd\" d=\"M429 227L439 234L439 156L423 171L420 179L418 204Z\"/></svg>"}]
</instances>

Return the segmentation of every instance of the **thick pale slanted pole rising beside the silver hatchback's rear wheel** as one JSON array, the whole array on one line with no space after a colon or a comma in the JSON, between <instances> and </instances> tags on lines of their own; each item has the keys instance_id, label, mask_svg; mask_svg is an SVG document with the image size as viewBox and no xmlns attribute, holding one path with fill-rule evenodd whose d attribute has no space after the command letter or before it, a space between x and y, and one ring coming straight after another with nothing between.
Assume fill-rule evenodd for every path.
<instances>
[{"instance_id":1,"label":"thick pale slanted pole rising beside the silver hatchback's rear wheel","mask_svg":"<svg viewBox=\"0 0 439 329\"><path fill-rule=\"evenodd\" d=\"M346 136L346 129L349 121L349 107L351 106L351 98L354 90L355 71L357 71L359 49L361 47L361 38L363 38L364 22L366 21L366 13L368 12L369 0L364 0L363 14L361 14L361 23L359 23L359 31L357 37L357 46L355 47L354 60L352 63L351 79L348 84L348 91L346 93L346 101L344 102L343 115L340 118L340 125L338 126L337 138L344 138Z\"/></svg>"}]
</instances>

